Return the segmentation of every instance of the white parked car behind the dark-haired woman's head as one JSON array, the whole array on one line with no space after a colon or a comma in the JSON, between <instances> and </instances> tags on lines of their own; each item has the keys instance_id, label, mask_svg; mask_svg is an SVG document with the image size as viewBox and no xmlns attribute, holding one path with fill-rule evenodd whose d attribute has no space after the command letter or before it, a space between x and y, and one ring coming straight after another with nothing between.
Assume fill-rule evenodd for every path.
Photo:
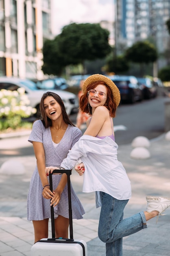
<instances>
[{"instance_id":1,"label":"white parked car behind the dark-haired woman's head","mask_svg":"<svg viewBox=\"0 0 170 256\"><path fill-rule=\"evenodd\" d=\"M44 94L44 92L47 91L55 92L61 97L68 115L72 115L78 112L78 98L75 94L71 92L65 92L63 90L37 89L36 84L28 79L19 79L6 76L0 77L0 90L6 89L14 91L20 87L23 87L25 89L25 93L27 94L28 99L30 100L30 106L37 109L37 113L35 114L37 118L41 116L39 110L39 103L41 97Z\"/></svg>"}]
</instances>

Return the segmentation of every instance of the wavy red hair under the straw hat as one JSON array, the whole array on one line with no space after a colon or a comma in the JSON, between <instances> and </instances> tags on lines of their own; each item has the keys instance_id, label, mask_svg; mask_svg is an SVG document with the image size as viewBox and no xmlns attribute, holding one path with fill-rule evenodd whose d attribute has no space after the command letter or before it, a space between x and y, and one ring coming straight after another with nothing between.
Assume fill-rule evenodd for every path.
<instances>
[{"instance_id":1,"label":"wavy red hair under the straw hat","mask_svg":"<svg viewBox=\"0 0 170 256\"><path fill-rule=\"evenodd\" d=\"M114 102L114 95L112 93L111 88L102 81L97 81L94 83L90 83L87 88L86 92L80 98L80 108L83 112L89 113L92 115L92 107L88 104L88 94L87 92L91 89L95 89L97 85L105 85L107 88L107 100L105 102L105 107L109 110L110 116L115 117L116 115L116 103ZM88 106L89 105L89 106Z\"/></svg>"}]
</instances>

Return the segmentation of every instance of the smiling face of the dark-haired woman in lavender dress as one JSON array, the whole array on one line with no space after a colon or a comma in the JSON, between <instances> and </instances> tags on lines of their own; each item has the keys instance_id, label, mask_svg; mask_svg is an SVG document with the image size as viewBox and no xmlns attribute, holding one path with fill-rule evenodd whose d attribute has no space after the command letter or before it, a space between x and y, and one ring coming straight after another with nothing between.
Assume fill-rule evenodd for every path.
<instances>
[{"instance_id":1,"label":"smiling face of the dark-haired woman in lavender dress","mask_svg":"<svg viewBox=\"0 0 170 256\"><path fill-rule=\"evenodd\" d=\"M61 106L52 96L48 96L44 99L44 110L47 117L51 120L56 120L62 116Z\"/></svg>"}]
</instances>

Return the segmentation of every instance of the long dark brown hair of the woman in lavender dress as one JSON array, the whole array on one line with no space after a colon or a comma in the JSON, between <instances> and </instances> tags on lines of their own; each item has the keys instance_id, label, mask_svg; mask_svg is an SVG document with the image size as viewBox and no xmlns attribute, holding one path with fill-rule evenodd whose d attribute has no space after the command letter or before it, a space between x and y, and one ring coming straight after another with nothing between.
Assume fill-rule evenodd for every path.
<instances>
[{"instance_id":1,"label":"long dark brown hair of the woman in lavender dress","mask_svg":"<svg viewBox=\"0 0 170 256\"><path fill-rule=\"evenodd\" d=\"M41 111L41 115L42 115L42 123L44 124L45 128L48 128L49 126L52 126L52 121L49 117L47 117L46 115L46 111L44 109L44 99L46 99L48 96L52 96L57 103L59 103L59 105L61 106L61 111L62 111L62 115L63 115L63 119L65 124L70 124L71 126L75 126L69 119L68 114L65 110L65 106L64 103L62 101L62 99L59 97L58 94L54 93L54 92L45 92L41 98L41 101L39 103L39 108Z\"/></svg>"}]
</instances>

